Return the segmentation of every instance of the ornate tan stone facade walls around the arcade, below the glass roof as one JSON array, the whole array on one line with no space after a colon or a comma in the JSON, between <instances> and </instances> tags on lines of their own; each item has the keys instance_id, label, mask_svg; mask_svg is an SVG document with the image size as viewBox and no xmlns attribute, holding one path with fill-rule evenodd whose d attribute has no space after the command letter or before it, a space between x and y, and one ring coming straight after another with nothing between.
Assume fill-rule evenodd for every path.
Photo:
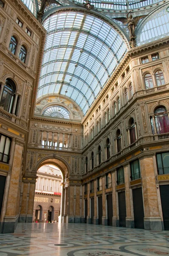
<instances>
[{"instance_id":1,"label":"ornate tan stone facade walls around the arcade, below the glass roof","mask_svg":"<svg viewBox=\"0 0 169 256\"><path fill-rule=\"evenodd\" d=\"M162 190L169 186L169 167L159 170L157 154L168 157L169 132L159 132L160 114L155 111L163 108L169 115L169 38L128 50L83 119L78 106L78 118L72 111L71 120L52 119L41 115L41 105L48 106L49 97L36 102L45 29L21 1L6 0L0 10L0 96L6 79L16 85L14 111L0 108L0 134L11 141L8 163L0 162L0 175L6 177L0 231L14 232L18 221L34 221L37 170L46 164L61 170L63 182L61 197L39 192L39 198L48 198L48 204L35 204L44 208L43 217L52 206L57 219L56 198L62 222L133 228L137 227L134 198L139 197L144 228L163 230ZM32 29L31 37L25 27ZM12 35L19 42L16 55L8 50ZM22 44L29 49L25 64L18 58ZM153 60L153 55L158 58ZM143 63L145 57L149 61ZM60 106L74 104L66 96L62 99Z\"/></svg>"}]
</instances>

